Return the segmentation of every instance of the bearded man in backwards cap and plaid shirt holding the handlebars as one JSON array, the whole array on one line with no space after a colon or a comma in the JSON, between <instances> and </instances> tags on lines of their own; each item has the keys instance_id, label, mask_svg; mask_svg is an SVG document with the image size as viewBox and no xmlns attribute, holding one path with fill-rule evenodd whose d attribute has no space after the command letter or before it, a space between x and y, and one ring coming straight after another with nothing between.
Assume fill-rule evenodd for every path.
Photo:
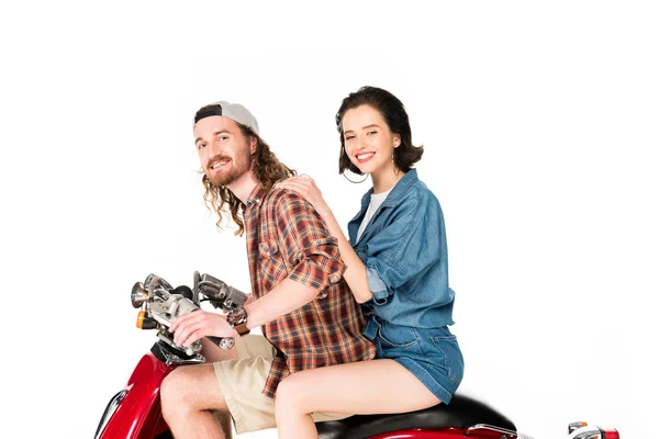
<instances>
[{"instance_id":1,"label":"bearded man in backwards cap and plaid shirt holding the handlebars","mask_svg":"<svg viewBox=\"0 0 659 439\"><path fill-rule=\"evenodd\" d=\"M236 344L222 351L203 339L209 362L176 369L160 396L175 437L230 438L228 415L238 434L276 427L275 393L290 373L369 360L375 347L361 336L364 318L342 279L336 239L299 194L272 189L294 171L259 137L252 113L223 101L206 105L194 116L194 138L217 225L231 213L236 234L247 233L254 300L226 316L199 311L172 324L179 346L206 336ZM259 326L265 337L245 335Z\"/></svg>"}]
</instances>

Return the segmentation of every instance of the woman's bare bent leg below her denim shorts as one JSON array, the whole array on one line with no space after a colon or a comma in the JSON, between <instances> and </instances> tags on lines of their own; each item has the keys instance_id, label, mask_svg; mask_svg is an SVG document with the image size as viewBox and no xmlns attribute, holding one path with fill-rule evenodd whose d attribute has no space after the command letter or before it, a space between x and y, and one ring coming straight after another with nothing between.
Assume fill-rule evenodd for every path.
<instances>
[{"instance_id":1,"label":"woman's bare bent leg below her denim shorts","mask_svg":"<svg viewBox=\"0 0 659 439\"><path fill-rule=\"evenodd\" d=\"M337 364L294 373L277 389L279 439L317 438L311 413L404 413L439 404L407 369L393 360Z\"/></svg>"}]
</instances>

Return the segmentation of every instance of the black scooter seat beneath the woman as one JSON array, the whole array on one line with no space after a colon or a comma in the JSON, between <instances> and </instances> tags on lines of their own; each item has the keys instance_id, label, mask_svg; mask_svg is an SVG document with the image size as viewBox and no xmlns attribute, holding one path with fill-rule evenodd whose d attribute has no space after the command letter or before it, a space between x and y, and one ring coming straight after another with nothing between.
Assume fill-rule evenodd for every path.
<instances>
[{"instance_id":1,"label":"black scooter seat beneath the woman","mask_svg":"<svg viewBox=\"0 0 659 439\"><path fill-rule=\"evenodd\" d=\"M468 428L489 424L516 431L515 425L484 403L454 395L449 405L393 415L355 415L340 420L317 423L320 439L365 439L369 436L413 428Z\"/></svg>"}]
</instances>

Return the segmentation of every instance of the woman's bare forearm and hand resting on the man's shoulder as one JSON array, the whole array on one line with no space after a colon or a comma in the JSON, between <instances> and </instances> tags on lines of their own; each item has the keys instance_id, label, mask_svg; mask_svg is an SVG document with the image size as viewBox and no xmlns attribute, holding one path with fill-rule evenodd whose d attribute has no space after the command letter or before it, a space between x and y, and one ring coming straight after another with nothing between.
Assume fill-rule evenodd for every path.
<instances>
[{"instance_id":1,"label":"woman's bare forearm and hand resting on the man's shoulder","mask_svg":"<svg viewBox=\"0 0 659 439\"><path fill-rule=\"evenodd\" d=\"M313 179L310 177L292 177L280 181L278 188L289 189L298 192L304 199L313 205L321 218L325 223L330 235L335 237L338 241L338 250L340 251L340 258L346 264L346 271L344 272L344 279L348 283L355 300L358 303L369 301L373 293L368 288L368 281L366 275L366 266L361 262L361 259L357 256L353 246L344 235L338 222L334 217L334 213L323 199L321 190L316 187Z\"/></svg>"}]
</instances>

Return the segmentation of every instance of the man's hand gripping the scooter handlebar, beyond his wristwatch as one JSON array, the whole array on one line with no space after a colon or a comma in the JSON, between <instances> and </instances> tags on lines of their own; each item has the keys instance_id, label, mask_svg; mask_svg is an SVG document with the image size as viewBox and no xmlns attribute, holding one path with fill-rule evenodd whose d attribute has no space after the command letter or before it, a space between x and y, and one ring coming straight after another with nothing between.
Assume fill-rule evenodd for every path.
<instances>
[{"instance_id":1,"label":"man's hand gripping the scooter handlebar, beyond his wristwatch","mask_svg":"<svg viewBox=\"0 0 659 439\"><path fill-rule=\"evenodd\" d=\"M238 333L226 322L226 316L199 309L174 320L169 328L174 342L185 348L202 337L238 337Z\"/></svg>"}]
</instances>

